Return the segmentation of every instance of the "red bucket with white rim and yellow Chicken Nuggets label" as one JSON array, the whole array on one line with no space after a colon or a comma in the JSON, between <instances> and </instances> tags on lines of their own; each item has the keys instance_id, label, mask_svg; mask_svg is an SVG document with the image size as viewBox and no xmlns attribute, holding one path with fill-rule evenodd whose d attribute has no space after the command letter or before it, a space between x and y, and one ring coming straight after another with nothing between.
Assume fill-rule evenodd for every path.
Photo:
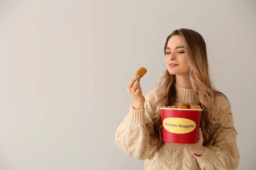
<instances>
[{"instance_id":1,"label":"red bucket with white rim and yellow Chicken Nuggets label","mask_svg":"<svg viewBox=\"0 0 256 170\"><path fill-rule=\"evenodd\" d=\"M163 142L195 144L198 142L201 109L160 108Z\"/></svg>"}]
</instances>

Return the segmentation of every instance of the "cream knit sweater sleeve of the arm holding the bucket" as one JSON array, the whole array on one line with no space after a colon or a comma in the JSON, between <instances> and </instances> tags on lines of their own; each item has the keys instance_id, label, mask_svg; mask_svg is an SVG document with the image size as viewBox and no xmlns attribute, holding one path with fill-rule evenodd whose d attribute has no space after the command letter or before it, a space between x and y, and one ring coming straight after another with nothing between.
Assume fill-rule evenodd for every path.
<instances>
[{"instance_id":1,"label":"cream knit sweater sleeve of the arm holding the bucket","mask_svg":"<svg viewBox=\"0 0 256 170\"><path fill-rule=\"evenodd\" d=\"M193 154L202 170L236 170L239 165L239 149L236 144L236 131L232 128L234 125L230 104L223 96L219 101L219 109L224 113L218 114L218 121L228 128L221 127L218 130L215 143L204 147L204 155L198 157Z\"/></svg>"}]
</instances>

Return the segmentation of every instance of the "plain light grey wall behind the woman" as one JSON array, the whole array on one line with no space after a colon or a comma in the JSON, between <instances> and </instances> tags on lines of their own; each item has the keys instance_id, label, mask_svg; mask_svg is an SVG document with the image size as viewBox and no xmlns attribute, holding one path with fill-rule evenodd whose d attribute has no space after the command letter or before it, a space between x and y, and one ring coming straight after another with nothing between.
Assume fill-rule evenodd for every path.
<instances>
[{"instance_id":1,"label":"plain light grey wall behind the woman","mask_svg":"<svg viewBox=\"0 0 256 170\"><path fill-rule=\"evenodd\" d=\"M177 28L198 31L231 101L241 159L256 167L256 1L0 0L0 169L142 170L114 134L140 67L165 70Z\"/></svg>"}]
</instances>

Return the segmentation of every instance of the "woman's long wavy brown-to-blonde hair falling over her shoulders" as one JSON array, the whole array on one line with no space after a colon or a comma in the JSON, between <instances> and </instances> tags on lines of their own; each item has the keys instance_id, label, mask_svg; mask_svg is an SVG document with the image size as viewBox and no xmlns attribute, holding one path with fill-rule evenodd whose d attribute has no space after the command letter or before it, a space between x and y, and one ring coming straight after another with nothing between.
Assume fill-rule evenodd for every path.
<instances>
[{"instance_id":1,"label":"woman's long wavy brown-to-blonde hair falling over her shoulders","mask_svg":"<svg viewBox=\"0 0 256 170\"><path fill-rule=\"evenodd\" d=\"M202 128L202 132L204 138L203 145L206 146L210 142L214 143L215 137L218 136L217 130L222 127L214 114L212 114L212 111L215 108L213 101L216 94L224 94L215 90L210 79L207 49L203 37L198 32L190 29L182 28L175 30L166 39L164 53L169 39L175 35L181 37L185 47L187 62L190 68L189 77L192 85L192 91L195 97L199 100L201 108L203 109L200 127L205 127ZM166 70L161 75L158 85L159 87L157 90L160 93L160 97L154 101L153 108L156 108L158 103L163 102L166 106L174 105L176 99L175 75L169 74ZM163 143L161 113L160 110L156 109L154 109L154 112L155 117L153 122L148 123L149 127L150 124L153 124L150 136L152 138L157 138L158 144L160 143L159 146L161 146Z\"/></svg>"}]
</instances>

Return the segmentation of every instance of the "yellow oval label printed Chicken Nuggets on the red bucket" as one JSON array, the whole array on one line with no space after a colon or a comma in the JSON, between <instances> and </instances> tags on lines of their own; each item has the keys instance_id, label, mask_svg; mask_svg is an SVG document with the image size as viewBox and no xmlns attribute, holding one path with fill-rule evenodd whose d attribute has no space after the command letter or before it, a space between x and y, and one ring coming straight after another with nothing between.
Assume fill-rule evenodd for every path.
<instances>
[{"instance_id":1,"label":"yellow oval label printed Chicken Nuggets on the red bucket","mask_svg":"<svg viewBox=\"0 0 256 170\"><path fill-rule=\"evenodd\" d=\"M195 129L195 122L190 119L169 117L163 120L163 127L171 133L189 133Z\"/></svg>"}]
</instances>

